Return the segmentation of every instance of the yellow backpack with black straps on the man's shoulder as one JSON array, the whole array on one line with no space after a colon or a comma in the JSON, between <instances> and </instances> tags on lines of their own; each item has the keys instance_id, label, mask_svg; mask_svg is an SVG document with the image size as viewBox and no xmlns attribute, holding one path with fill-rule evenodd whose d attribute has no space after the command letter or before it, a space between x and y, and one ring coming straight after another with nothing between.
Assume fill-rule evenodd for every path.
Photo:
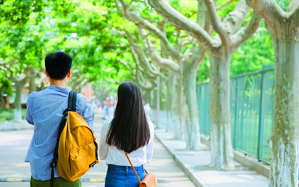
<instances>
[{"instance_id":1,"label":"yellow backpack with black straps on the man's shoulder","mask_svg":"<svg viewBox=\"0 0 299 187\"><path fill-rule=\"evenodd\" d=\"M60 177L75 181L99 163L96 139L85 119L76 112L76 100L77 92L70 91L68 108L63 112L59 124L53 160L50 164L51 187L56 166Z\"/></svg>"}]
</instances>

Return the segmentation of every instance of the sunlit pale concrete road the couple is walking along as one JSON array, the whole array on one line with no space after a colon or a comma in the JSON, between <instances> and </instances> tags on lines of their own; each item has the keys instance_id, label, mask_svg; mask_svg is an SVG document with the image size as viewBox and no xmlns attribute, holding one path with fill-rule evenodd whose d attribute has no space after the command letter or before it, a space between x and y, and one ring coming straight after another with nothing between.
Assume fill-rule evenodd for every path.
<instances>
[{"instance_id":1,"label":"sunlit pale concrete road the couple is walking along","mask_svg":"<svg viewBox=\"0 0 299 187\"><path fill-rule=\"evenodd\" d=\"M104 122L101 114L94 119L95 136L100 138L100 128ZM23 124L24 125L24 124ZM27 125L27 124L25 124ZM19 127L20 125L18 125ZM13 129L12 126L10 128ZM27 128L27 126L26 126ZM20 129L20 128L18 128ZM0 179L30 178L30 164L24 162L33 129L0 131ZM179 168L173 157L166 151L161 142L155 141L152 162L144 166L158 180L157 187L194 187L194 184ZM91 168L82 178L105 178L107 166L105 161ZM103 182L83 182L83 187L103 187ZM0 182L1 187L28 187L29 182Z\"/></svg>"}]
</instances>

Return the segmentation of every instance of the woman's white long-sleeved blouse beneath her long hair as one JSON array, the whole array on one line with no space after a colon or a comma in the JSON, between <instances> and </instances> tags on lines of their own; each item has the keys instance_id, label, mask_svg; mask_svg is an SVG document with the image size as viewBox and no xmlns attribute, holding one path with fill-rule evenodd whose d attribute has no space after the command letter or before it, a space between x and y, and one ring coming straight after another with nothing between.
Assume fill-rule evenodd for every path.
<instances>
[{"instance_id":1,"label":"woman's white long-sleeved blouse beneath her long hair","mask_svg":"<svg viewBox=\"0 0 299 187\"><path fill-rule=\"evenodd\" d=\"M107 164L130 166L130 163L125 155L125 152L119 150L115 146L108 146L106 144L106 136L109 130L109 125L112 119L104 122L101 129L99 157L100 160L106 160ZM133 166L141 166L150 163L152 160L152 153L154 148L154 125L147 120L150 130L150 140L147 145L128 154Z\"/></svg>"}]
</instances>

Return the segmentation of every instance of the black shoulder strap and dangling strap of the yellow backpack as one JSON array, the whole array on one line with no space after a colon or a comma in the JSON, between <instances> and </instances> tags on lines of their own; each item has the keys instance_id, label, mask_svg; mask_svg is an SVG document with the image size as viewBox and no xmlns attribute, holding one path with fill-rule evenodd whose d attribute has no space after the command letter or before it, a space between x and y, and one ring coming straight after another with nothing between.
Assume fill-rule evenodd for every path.
<instances>
[{"instance_id":1,"label":"black shoulder strap and dangling strap of the yellow backpack","mask_svg":"<svg viewBox=\"0 0 299 187\"><path fill-rule=\"evenodd\" d=\"M51 179L50 179L50 186L54 187L54 168L57 167L58 162L58 145L61 133L66 125L66 121L68 119L68 111L74 111L76 112L76 100L77 100L77 92L76 91L70 91L68 94L68 108L63 111L63 117L60 121L59 128L58 128L58 135L57 135L57 141L53 153L53 160L50 164L51 168Z\"/></svg>"}]
</instances>

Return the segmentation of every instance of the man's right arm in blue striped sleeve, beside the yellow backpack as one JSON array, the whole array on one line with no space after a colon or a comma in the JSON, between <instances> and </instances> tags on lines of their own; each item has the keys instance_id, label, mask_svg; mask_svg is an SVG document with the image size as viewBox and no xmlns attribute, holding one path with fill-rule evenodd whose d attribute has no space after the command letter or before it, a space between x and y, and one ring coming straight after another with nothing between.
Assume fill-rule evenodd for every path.
<instances>
[{"instance_id":1,"label":"man's right arm in blue striped sleeve, beside the yellow backpack","mask_svg":"<svg viewBox=\"0 0 299 187\"><path fill-rule=\"evenodd\" d=\"M89 105L89 102L87 101L87 98L81 93L77 94L76 111L85 119L92 132L94 133L91 107Z\"/></svg>"}]
</instances>

